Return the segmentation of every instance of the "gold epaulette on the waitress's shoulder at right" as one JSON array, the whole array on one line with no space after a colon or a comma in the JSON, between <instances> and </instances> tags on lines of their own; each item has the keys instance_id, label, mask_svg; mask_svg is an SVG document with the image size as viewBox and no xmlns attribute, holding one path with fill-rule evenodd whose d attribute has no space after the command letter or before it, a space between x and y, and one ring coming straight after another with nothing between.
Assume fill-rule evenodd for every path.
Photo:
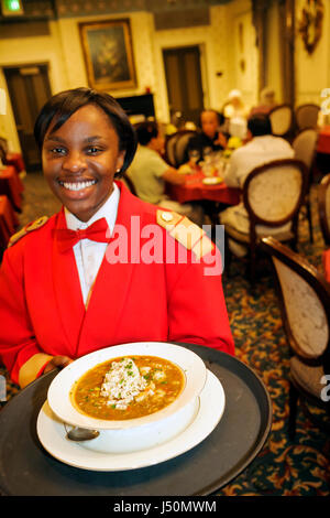
<instances>
[{"instance_id":1,"label":"gold epaulette on the waitress's shoulder at right","mask_svg":"<svg viewBox=\"0 0 330 518\"><path fill-rule=\"evenodd\" d=\"M198 259L213 250L215 245L204 229L190 222L186 216L170 211L158 209L156 217L157 224L165 228L185 248L191 250Z\"/></svg>"}]
</instances>

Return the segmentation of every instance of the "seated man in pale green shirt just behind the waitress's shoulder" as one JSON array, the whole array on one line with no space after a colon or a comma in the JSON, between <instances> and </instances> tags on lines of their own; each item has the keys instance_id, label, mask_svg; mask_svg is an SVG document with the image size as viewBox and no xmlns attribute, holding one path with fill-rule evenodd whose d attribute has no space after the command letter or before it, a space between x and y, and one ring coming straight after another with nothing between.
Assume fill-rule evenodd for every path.
<instances>
[{"instance_id":1,"label":"seated man in pale green shirt just behind the waitress's shoulder","mask_svg":"<svg viewBox=\"0 0 330 518\"><path fill-rule=\"evenodd\" d=\"M197 225L202 225L204 213L198 204L180 204L165 194L165 182L175 185L185 183L185 175L166 163L161 152L164 138L156 122L142 122L136 128L139 147L128 175L132 180L138 196L154 205L183 214Z\"/></svg>"}]
</instances>

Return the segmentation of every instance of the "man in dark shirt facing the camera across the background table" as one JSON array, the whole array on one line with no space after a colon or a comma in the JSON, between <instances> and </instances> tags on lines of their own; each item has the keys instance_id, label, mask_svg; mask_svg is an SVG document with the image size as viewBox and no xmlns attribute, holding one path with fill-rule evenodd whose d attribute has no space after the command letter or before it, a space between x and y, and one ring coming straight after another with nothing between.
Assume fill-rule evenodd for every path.
<instances>
[{"instance_id":1,"label":"man in dark shirt facing the camera across the background table","mask_svg":"<svg viewBox=\"0 0 330 518\"><path fill-rule=\"evenodd\" d=\"M198 150L199 159L204 158L204 150L211 148L212 151L221 151L227 145L227 138L219 130L223 125L224 118L216 110L205 110L200 115L201 132L189 140L187 147L186 161L189 160L189 151Z\"/></svg>"}]
</instances>

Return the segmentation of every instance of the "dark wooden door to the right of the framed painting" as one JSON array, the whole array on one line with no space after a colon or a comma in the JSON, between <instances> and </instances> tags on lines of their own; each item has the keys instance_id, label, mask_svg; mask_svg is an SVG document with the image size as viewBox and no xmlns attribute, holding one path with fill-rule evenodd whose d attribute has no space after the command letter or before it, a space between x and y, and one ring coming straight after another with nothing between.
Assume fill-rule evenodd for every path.
<instances>
[{"instance_id":1,"label":"dark wooden door to the right of the framed painting","mask_svg":"<svg viewBox=\"0 0 330 518\"><path fill-rule=\"evenodd\" d=\"M204 109L199 47L163 51L170 117L180 111L185 120L199 122Z\"/></svg>"}]
</instances>

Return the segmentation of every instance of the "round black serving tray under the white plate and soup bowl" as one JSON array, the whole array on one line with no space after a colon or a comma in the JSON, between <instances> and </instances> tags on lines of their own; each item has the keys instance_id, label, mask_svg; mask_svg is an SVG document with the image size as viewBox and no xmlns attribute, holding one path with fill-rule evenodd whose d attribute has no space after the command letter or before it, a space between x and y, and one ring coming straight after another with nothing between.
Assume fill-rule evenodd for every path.
<instances>
[{"instance_id":1,"label":"round black serving tray under the white plate and soup bowl","mask_svg":"<svg viewBox=\"0 0 330 518\"><path fill-rule=\"evenodd\" d=\"M262 450L272 424L267 390L237 358L210 347L178 344L198 354L221 381L223 416L193 450L150 467L95 472L51 456L36 434L38 412L56 376L48 373L0 411L0 492L14 496L207 496L233 481Z\"/></svg>"}]
</instances>

